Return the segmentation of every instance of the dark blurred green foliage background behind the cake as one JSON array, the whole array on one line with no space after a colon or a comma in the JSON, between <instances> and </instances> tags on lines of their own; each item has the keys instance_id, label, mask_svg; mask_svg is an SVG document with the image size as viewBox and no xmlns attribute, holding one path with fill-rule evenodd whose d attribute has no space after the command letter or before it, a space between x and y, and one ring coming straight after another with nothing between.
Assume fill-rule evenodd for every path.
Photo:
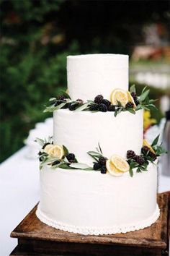
<instances>
[{"instance_id":1,"label":"dark blurred green foliage background behind the cake","mask_svg":"<svg viewBox=\"0 0 170 256\"><path fill-rule=\"evenodd\" d=\"M35 123L49 116L42 113L43 105L66 88L67 55L129 54L131 83L136 67L169 63L169 1L1 0L0 5L0 161L21 148ZM153 23L164 28L158 47L166 50L149 61L136 60L135 46L147 43L143 27ZM151 94L160 98L169 89L152 87ZM155 115L159 120L162 113Z\"/></svg>"}]
</instances>

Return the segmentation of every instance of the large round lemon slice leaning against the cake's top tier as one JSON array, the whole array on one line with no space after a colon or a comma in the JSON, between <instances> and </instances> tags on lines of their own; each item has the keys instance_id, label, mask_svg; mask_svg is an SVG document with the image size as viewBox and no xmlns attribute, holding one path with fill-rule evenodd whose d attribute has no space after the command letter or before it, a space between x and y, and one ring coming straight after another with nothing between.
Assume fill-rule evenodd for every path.
<instances>
[{"instance_id":1,"label":"large round lemon slice leaning against the cake's top tier","mask_svg":"<svg viewBox=\"0 0 170 256\"><path fill-rule=\"evenodd\" d=\"M128 103L128 95L125 90L115 89L111 93L110 100L113 105L117 105L117 101L120 101L122 106L126 106Z\"/></svg>"}]
</instances>

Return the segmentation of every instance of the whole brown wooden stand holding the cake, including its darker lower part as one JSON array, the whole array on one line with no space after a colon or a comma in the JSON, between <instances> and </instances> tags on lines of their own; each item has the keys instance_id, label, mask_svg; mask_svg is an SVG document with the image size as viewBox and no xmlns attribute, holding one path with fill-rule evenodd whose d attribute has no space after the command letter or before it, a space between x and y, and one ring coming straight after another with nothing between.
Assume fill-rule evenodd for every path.
<instances>
[{"instance_id":1,"label":"whole brown wooden stand holding the cake, including its darker lower part","mask_svg":"<svg viewBox=\"0 0 170 256\"><path fill-rule=\"evenodd\" d=\"M104 236L84 236L54 229L35 216L35 208L19 223L11 237L18 239L13 255L168 255L169 193L158 195L161 216L152 226Z\"/></svg>"}]
</instances>

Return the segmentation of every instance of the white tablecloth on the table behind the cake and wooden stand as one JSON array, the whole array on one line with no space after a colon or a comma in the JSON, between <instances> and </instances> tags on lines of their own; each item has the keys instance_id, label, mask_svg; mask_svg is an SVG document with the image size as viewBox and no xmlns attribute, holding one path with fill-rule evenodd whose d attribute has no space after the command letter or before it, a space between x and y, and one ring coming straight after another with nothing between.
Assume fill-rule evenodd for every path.
<instances>
[{"instance_id":1,"label":"white tablecloth on the table behind the cake and wooden stand","mask_svg":"<svg viewBox=\"0 0 170 256\"><path fill-rule=\"evenodd\" d=\"M39 163L27 158L25 146L0 166L0 256L17 245L11 231L39 200ZM158 176L158 192L170 190L170 177Z\"/></svg>"}]
</instances>

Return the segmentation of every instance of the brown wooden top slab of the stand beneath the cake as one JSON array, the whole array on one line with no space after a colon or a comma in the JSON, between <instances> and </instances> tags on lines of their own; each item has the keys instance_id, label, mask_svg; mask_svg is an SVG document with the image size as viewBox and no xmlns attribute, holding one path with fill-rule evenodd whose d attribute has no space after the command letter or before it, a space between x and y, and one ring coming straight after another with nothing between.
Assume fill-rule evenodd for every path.
<instances>
[{"instance_id":1,"label":"brown wooden top slab of the stand beneath the cake","mask_svg":"<svg viewBox=\"0 0 170 256\"><path fill-rule=\"evenodd\" d=\"M74 234L45 225L35 216L36 205L24 220L19 223L17 228L12 231L11 237L53 242L117 244L120 246L154 247L164 249L166 248L168 237L169 194L159 194L158 205L161 209L161 216L156 223L153 223L150 227L139 231L128 232L126 234L100 236Z\"/></svg>"}]
</instances>

